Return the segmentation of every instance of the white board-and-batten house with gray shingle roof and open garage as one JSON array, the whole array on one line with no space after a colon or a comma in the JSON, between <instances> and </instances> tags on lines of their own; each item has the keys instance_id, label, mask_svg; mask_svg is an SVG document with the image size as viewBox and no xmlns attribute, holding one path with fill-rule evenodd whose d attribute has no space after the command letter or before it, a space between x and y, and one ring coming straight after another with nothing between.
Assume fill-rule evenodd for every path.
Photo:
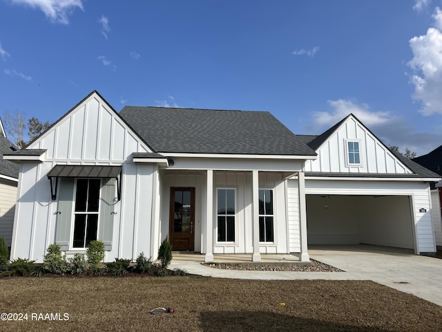
<instances>
[{"instance_id":1,"label":"white board-and-batten house with gray shingle roof and open garage","mask_svg":"<svg viewBox=\"0 0 442 332\"><path fill-rule=\"evenodd\" d=\"M20 164L12 257L100 239L106 261L173 250L296 252L372 243L434 252L429 183L350 115L296 136L268 112L124 107L90 93L5 156Z\"/></svg>"}]
</instances>

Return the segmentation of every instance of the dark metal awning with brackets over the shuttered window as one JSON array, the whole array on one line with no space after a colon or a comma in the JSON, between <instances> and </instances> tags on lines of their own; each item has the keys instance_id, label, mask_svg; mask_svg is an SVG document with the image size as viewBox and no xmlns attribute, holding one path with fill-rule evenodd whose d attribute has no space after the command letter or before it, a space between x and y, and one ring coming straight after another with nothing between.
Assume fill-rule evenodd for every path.
<instances>
[{"instance_id":1,"label":"dark metal awning with brackets over the shuttered window","mask_svg":"<svg viewBox=\"0 0 442 332\"><path fill-rule=\"evenodd\" d=\"M121 166L55 165L48 173L52 201L57 197L58 178L116 178L118 201L121 199ZM54 181L55 179L55 181Z\"/></svg>"}]
</instances>

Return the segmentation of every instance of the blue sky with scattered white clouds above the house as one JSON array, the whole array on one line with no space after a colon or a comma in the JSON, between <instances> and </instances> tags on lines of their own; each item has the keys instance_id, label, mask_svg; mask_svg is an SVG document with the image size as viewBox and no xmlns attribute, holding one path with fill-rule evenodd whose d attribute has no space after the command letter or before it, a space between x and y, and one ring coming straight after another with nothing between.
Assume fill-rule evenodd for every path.
<instances>
[{"instance_id":1,"label":"blue sky with scattered white clouds above the house","mask_svg":"<svg viewBox=\"0 0 442 332\"><path fill-rule=\"evenodd\" d=\"M421 156L442 145L442 0L0 0L0 117L55 122L93 90L296 134L354 113Z\"/></svg>"}]
</instances>

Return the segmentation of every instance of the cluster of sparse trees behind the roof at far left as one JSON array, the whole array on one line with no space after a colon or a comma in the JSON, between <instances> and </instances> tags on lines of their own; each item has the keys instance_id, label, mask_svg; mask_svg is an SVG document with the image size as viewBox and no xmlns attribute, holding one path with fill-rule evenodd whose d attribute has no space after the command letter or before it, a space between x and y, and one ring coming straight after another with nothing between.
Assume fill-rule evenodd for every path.
<instances>
[{"instance_id":1,"label":"cluster of sparse trees behind the roof at far left","mask_svg":"<svg viewBox=\"0 0 442 332\"><path fill-rule=\"evenodd\" d=\"M19 147L19 149L23 149L28 142L50 127L48 121L44 123L40 122L40 120L34 116L28 119L28 124L26 125L26 114L19 111L16 111L14 114L10 113L10 111L6 111L3 124L5 125L5 131L9 140ZM26 132L26 129L28 129L28 132Z\"/></svg>"}]
</instances>

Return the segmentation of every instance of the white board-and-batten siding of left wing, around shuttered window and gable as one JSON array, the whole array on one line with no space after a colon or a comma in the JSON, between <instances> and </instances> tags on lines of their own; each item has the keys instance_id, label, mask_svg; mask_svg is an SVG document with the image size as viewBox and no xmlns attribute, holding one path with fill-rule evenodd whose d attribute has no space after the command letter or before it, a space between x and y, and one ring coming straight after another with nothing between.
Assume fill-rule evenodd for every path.
<instances>
[{"instance_id":1,"label":"white board-and-batten siding of left wing, around shuttered window and gable","mask_svg":"<svg viewBox=\"0 0 442 332\"><path fill-rule=\"evenodd\" d=\"M122 201L114 206L112 245L108 246L111 250L106 251L105 260L135 259L142 251L149 257L152 181L157 168L131 162L133 152L150 150L99 95L90 95L28 149L47 151L44 162L21 164L12 258L35 259L41 263L46 248L55 242L61 188L57 199L51 201L47 177L55 165L121 165ZM106 232L109 234L111 230ZM76 251L67 252L72 255Z\"/></svg>"}]
</instances>

